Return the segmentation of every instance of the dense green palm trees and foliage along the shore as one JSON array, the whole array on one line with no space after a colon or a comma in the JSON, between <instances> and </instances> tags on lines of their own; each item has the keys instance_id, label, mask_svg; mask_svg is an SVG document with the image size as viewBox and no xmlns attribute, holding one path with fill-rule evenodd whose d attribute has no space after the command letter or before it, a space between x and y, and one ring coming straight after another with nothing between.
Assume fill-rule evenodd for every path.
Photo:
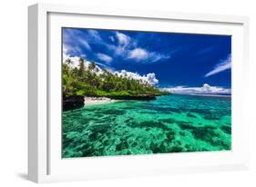
<instances>
[{"instance_id":1,"label":"dense green palm trees and foliage along the shore","mask_svg":"<svg viewBox=\"0 0 256 187\"><path fill-rule=\"evenodd\" d=\"M84 59L80 58L78 67L71 67L71 60L62 64L62 85L65 95L87 96L130 96L130 95L159 95L166 94L151 84L142 83L123 76L118 76L103 69L102 74L97 74L99 69L95 63L90 63L87 68Z\"/></svg>"}]
</instances>

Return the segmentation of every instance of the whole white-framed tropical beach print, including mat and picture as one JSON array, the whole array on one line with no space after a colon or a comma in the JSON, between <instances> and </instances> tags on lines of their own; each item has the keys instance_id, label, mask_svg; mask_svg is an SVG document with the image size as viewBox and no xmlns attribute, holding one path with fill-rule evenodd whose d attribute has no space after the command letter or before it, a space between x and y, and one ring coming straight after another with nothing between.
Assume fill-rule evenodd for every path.
<instances>
[{"instance_id":1,"label":"whole white-framed tropical beach print, including mat and picture","mask_svg":"<svg viewBox=\"0 0 256 187\"><path fill-rule=\"evenodd\" d=\"M29 7L29 179L248 168L247 17Z\"/></svg>"}]
</instances>

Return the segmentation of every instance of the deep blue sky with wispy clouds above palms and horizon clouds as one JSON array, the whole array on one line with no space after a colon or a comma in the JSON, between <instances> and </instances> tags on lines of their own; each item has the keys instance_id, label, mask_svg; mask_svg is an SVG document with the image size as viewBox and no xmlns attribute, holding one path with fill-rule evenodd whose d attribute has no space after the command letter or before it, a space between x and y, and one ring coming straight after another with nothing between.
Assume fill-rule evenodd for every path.
<instances>
[{"instance_id":1,"label":"deep blue sky with wispy clouds above palms and horizon clouds","mask_svg":"<svg viewBox=\"0 0 256 187\"><path fill-rule=\"evenodd\" d=\"M156 74L159 87L230 88L231 36L63 28L67 56L111 71Z\"/></svg>"}]
</instances>

